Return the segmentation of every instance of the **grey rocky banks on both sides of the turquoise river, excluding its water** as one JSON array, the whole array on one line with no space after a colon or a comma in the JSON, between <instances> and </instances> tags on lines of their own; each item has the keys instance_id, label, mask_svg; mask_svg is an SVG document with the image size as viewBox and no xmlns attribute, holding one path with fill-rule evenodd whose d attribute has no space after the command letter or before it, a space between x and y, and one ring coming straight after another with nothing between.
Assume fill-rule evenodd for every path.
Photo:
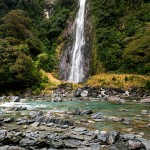
<instances>
[{"instance_id":1,"label":"grey rocky banks on both sides of the turquoise river, excluding its water","mask_svg":"<svg viewBox=\"0 0 150 150\"><path fill-rule=\"evenodd\" d=\"M142 131L133 132L129 127L126 128L128 132L122 132L120 128L118 130L94 128L97 122L100 124L119 122L127 126L133 124L132 120L126 117L107 116L100 110L95 112L92 109L80 107L64 112L53 112L53 110L40 111L38 109L31 111L24 105L17 106L17 104L23 104L25 98L32 98L36 101L48 100L62 105L65 101L73 102L75 99L87 104L107 101L114 105L125 105L132 101L142 105L142 103L150 102L149 96L148 92L139 89L125 91L84 87L73 91L70 86L60 86L51 94L33 96L26 93L22 96L2 96L1 101L9 101L13 103L13 107L3 108L0 118L0 150L150 150L150 141L144 138ZM119 111L130 110L120 109ZM6 115L3 115L4 112ZM139 115L134 117L139 121L143 121L145 117L144 126L148 132L150 111L141 110Z\"/></svg>"}]
</instances>

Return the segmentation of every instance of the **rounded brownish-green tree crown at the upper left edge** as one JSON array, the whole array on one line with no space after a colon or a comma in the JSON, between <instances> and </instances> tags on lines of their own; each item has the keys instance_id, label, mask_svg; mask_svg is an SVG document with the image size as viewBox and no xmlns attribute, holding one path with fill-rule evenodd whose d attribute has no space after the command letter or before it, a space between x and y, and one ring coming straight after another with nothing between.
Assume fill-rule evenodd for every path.
<instances>
[{"instance_id":1,"label":"rounded brownish-green tree crown at the upper left edge","mask_svg":"<svg viewBox=\"0 0 150 150\"><path fill-rule=\"evenodd\" d=\"M29 26L31 19L26 17L22 10L12 10L6 14L0 24L0 38L14 37L16 39L24 40L31 36Z\"/></svg>"}]
</instances>

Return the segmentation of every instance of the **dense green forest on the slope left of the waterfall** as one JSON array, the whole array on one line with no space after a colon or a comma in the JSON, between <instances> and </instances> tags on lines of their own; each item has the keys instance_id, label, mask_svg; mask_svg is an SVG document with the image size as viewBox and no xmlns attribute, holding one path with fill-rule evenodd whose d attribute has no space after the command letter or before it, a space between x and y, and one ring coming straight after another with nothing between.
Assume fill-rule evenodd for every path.
<instances>
[{"instance_id":1,"label":"dense green forest on the slope left of the waterfall","mask_svg":"<svg viewBox=\"0 0 150 150\"><path fill-rule=\"evenodd\" d=\"M76 6L75 0L0 0L0 87L42 88L58 63L59 36ZM49 19L45 8L53 8Z\"/></svg>"}]
</instances>

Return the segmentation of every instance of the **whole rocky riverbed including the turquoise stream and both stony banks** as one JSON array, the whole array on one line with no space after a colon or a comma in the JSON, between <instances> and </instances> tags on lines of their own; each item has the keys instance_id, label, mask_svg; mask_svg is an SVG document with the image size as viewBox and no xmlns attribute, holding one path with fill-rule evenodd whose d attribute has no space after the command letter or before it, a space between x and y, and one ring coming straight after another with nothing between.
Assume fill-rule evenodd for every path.
<instances>
[{"instance_id":1,"label":"whole rocky riverbed including the turquoise stream and both stony banks","mask_svg":"<svg viewBox=\"0 0 150 150\"><path fill-rule=\"evenodd\" d=\"M149 96L64 84L49 95L1 97L0 148L149 150Z\"/></svg>"}]
</instances>

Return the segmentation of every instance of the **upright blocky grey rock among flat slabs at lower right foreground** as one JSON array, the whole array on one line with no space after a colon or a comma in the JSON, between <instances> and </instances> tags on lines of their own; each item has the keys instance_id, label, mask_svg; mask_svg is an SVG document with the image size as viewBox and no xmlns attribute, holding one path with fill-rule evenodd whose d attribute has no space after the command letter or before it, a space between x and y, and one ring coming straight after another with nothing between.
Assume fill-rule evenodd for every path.
<instances>
[{"instance_id":1,"label":"upright blocky grey rock among flat slabs at lower right foreground","mask_svg":"<svg viewBox=\"0 0 150 150\"><path fill-rule=\"evenodd\" d=\"M111 131L108 134L108 143L113 144L119 138L120 133L117 131Z\"/></svg>"}]
</instances>

